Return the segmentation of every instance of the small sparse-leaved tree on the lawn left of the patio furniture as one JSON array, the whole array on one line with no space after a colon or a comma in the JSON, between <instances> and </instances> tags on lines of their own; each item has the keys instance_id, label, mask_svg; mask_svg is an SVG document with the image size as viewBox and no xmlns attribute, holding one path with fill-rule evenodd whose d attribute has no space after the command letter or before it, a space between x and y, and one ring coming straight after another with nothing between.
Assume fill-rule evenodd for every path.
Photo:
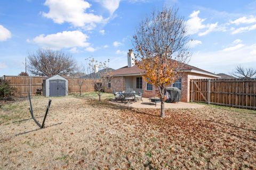
<instances>
[{"instance_id":1,"label":"small sparse-leaved tree on the lawn left of the patio furniture","mask_svg":"<svg viewBox=\"0 0 256 170\"><path fill-rule=\"evenodd\" d=\"M93 80L94 91L99 96L100 101L102 92L105 90L111 79L111 73L108 67L109 59L104 62L99 62L94 58L89 57L86 58L86 61L87 78Z\"/></svg>"}]
</instances>

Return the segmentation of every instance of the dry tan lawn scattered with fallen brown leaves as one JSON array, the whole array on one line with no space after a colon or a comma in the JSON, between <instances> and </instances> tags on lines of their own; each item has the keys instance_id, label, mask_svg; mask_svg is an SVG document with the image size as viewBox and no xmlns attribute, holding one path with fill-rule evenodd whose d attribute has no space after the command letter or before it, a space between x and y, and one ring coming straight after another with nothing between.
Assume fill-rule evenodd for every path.
<instances>
[{"instance_id":1,"label":"dry tan lawn scattered with fallen brown leaves","mask_svg":"<svg viewBox=\"0 0 256 170\"><path fill-rule=\"evenodd\" d=\"M46 128L28 101L0 108L0 169L255 169L256 114L205 106L131 109L93 94L52 98ZM103 99L111 98L103 94ZM48 98L33 97L42 122ZM253 112L252 112L253 113Z\"/></svg>"}]
</instances>

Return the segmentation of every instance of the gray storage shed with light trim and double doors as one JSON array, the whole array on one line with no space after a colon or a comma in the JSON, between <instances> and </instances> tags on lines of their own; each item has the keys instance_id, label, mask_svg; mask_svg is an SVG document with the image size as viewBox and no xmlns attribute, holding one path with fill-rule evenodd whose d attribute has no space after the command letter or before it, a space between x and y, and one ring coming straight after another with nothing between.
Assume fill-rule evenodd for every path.
<instances>
[{"instance_id":1,"label":"gray storage shed with light trim and double doors","mask_svg":"<svg viewBox=\"0 0 256 170\"><path fill-rule=\"evenodd\" d=\"M54 75L43 80L43 96L68 96L68 80L60 75Z\"/></svg>"}]
</instances>

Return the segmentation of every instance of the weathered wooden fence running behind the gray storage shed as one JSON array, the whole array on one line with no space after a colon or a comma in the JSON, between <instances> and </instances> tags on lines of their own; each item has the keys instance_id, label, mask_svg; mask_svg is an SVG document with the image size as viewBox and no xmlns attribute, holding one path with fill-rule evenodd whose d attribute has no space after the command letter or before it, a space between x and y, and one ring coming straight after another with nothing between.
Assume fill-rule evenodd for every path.
<instances>
[{"instance_id":1,"label":"weathered wooden fence running behind the gray storage shed","mask_svg":"<svg viewBox=\"0 0 256 170\"><path fill-rule=\"evenodd\" d=\"M36 89L43 89L43 80L47 77L9 76L4 75L4 79L10 81L15 88L14 95L36 94ZM66 78L66 77L65 77ZM68 80L68 93L75 94L80 91L79 84L83 81L82 92L94 91L93 80L80 78L66 78Z\"/></svg>"}]
</instances>

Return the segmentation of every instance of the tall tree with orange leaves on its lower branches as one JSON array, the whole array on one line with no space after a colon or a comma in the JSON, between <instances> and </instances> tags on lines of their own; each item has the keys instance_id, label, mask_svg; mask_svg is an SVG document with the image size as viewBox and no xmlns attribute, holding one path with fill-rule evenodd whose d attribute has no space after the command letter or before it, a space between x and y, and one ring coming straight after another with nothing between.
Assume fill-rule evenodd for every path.
<instances>
[{"instance_id":1,"label":"tall tree with orange leaves on its lower branches","mask_svg":"<svg viewBox=\"0 0 256 170\"><path fill-rule=\"evenodd\" d=\"M179 78L190 58L186 23L178 10L164 7L141 21L133 39L135 64L145 71L144 80L157 88L164 117L165 87Z\"/></svg>"}]
</instances>

